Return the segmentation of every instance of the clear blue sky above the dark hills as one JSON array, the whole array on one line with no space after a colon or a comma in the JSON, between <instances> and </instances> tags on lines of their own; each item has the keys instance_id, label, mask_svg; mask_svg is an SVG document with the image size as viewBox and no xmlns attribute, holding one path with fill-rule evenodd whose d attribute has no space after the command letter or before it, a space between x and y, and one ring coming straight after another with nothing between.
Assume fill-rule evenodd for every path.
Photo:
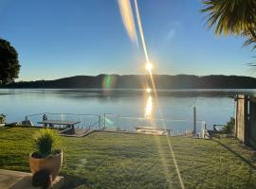
<instances>
[{"instance_id":1,"label":"clear blue sky above the dark hills","mask_svg":"<svg viewBox=\"0 0 256 189\"><path fill-rule=\"evenodd\" d=\"M214 36L201 1L137 3L154 74L255 77L247 66L252 48L240 37ZM118 0L0 0L0 38L19 54L18 80L146 74L141 43L129 39Z\"/></svg>"}]
</instances>

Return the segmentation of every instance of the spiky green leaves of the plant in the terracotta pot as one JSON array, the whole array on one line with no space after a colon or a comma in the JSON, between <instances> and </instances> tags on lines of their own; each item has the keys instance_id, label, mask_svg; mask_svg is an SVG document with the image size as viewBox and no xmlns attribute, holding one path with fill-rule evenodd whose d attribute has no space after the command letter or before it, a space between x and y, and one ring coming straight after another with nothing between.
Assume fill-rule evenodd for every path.
<instances>
[{"instance_id":1,"label":"spiky green leaves of the plant in the terracotta pot","mask_svg":"<svg viewBox=\"0 0 256 189\"><path fill-rule=\"evenodd\" d=\"M53 129L40 129L35 132L34 146L42 157L47 157L52 153L52 148L60 142L59 136Z\"/></svg>"}]
</instances>

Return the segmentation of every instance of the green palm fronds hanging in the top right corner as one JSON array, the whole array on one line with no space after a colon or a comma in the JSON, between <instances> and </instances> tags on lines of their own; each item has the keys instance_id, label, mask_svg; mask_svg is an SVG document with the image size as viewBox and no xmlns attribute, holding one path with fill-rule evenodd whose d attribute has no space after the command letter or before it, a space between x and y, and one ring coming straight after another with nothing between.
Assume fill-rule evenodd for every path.
<instances>
[{"instance_id":1,"label":"green palm fronds hanging in the top right corner","mask_svg":"<svg viewBox=\"0 0 256 189\"><path fill-rule=\"evenodd\" d=\"M208 13L207 25L215 26L215 35L244 36L244 45L256 48L256 0L202 0L202 12Z\"/></svg>"}]
</instances>

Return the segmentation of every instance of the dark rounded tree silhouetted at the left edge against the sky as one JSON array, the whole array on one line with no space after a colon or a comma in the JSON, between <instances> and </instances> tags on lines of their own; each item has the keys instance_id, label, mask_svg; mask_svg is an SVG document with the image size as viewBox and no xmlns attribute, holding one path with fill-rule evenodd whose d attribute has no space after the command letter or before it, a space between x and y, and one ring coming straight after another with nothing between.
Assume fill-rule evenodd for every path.
<instances>
[{"instance_id":1,"label":"dark rounded tree silhouetted at the left edge against the sky","mask_svg":"<svg viewBox=\"0 0 256 189\"><path fill-rule=\"evenodd\" d=\"M8 41L0 39L0 84L7 84L17 78L20 67L15 48Z\"/></svg>"}]
</instances>

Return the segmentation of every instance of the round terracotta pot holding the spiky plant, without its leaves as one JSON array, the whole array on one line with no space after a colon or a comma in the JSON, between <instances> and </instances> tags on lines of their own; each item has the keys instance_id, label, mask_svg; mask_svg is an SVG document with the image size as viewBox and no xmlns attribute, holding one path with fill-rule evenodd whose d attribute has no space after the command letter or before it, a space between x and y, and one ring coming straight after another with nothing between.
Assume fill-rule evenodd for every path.
<instances>
[{"instance_id":1,"label":"round terracotta pot holding the spiky plant, without its leaves","mask_svg":"<svg viewBox=\"0 0 256 189\"><path fill-rule=\"evenodd\" d=\"M61 166L63 163L63 151L55 156L47 158L34 158L32 154L29 156L29 165L31 173L34 174L40 170L48 170L52 176L52 181L56 179L60 173Z\"/></svg>"}]
</instances>

